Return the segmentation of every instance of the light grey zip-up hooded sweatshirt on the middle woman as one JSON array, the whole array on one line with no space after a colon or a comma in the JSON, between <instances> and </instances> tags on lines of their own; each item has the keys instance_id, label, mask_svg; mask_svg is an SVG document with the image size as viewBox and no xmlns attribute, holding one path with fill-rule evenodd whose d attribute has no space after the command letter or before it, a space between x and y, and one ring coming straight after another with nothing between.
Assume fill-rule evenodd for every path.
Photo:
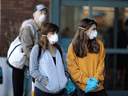
<instances>
[{"instance_id":1,"label":"light grey zip-up hooded sweatshirt on the middle woman","mask_svg":"<svg viewBox=\"0 0 128 96\"><path fill-rule=\"evenodd\" d=\"M35 86L47 93L59 93L66 87L67 78L65 76L64 67L66 67L66 60L61 59L60 52L55 48L56 65L54 64L52 54L49 50L44 52L41 49L41 56L38 59L39 46L35 45L30 54L30 74L35 78ZM65 58L63 54L63 58ZM45 82L48 80L48 85Z\"/></svg>"}]
</instances>

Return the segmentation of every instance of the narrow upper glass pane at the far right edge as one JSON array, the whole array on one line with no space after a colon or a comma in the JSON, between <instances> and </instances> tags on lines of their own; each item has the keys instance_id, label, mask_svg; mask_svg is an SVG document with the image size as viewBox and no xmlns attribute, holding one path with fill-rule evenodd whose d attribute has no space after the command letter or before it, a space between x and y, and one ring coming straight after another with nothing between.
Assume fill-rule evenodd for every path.
<instances>
[{"instance_id":1,"label":"narrow upper glass pane at the far right edge","mask_svg":"<svg viewBox=\"0 0 128 96\"><path fill-rule=\"evenodd\" d=\"M128 8L118 8L117 47L128 49Z\"/></svg>"}]
</instances>

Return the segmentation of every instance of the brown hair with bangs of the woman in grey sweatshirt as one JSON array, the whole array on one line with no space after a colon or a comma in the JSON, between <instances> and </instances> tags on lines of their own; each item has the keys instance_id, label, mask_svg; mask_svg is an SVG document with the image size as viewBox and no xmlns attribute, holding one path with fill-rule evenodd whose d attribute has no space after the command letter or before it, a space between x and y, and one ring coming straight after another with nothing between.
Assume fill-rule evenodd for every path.
<instances>
[{"instance_id":1,"label":"brown hair with bangs of the woman in grey sweatshirt","mask_svg":"<svg viewBox=\"0 0 128 96\"><path fill-rule=\"evenodd\" d=\"M57 32L58 33L59 27L53 23L44 24L41 28L42 35L47 35L49 32ZM39 46L41 46L44 51L48 49L48 43L49 43L49 41L46 36L42 36L41 39L37 42L37 44ZM53 44L53 46L56 47L62 55L60 45L58 43L55 43L55 44Z\"/></svg>"}]
</instances>

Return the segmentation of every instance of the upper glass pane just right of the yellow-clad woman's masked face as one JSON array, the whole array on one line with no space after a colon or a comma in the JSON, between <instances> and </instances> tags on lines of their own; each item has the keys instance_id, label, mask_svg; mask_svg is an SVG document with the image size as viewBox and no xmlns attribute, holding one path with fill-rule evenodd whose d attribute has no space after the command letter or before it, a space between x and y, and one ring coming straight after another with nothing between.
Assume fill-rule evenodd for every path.
<instances>
[{"instance_id":1,"label":"upper glass pane just right of the yellow-clad woman's masked face","mask_svg":"<svg viewBox=\"0 0 128 96\"><path fill-rule=\"evenodd\" d=\"M112 7L92 7L93 19L98 23L97 39L100 39L105 48L113 48L115 10Z\"/></svg>"}]
</instances>

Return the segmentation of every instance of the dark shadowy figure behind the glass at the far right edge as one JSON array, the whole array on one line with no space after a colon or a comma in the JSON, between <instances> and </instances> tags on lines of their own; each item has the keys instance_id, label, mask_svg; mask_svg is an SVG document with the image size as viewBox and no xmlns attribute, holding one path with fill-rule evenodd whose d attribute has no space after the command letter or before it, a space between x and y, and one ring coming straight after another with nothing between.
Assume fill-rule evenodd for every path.
<instances>
[{"instance_id":1,"label":"dark shadowy figure behind the glass at the far right edge","mask_svg":"<svg viewBox=\"0 0 128 96\"><path fill-rule=\"evenodd\" d=\"M118 48L128 49L128 19L125 21L123 29L118 33ZM124 90L128 90L128 64L127 64L128 54L118 54L117 59L117 69L121 70L121 77L123 73L125 74L125 86Z\"/></svg>"}]
</instances>

